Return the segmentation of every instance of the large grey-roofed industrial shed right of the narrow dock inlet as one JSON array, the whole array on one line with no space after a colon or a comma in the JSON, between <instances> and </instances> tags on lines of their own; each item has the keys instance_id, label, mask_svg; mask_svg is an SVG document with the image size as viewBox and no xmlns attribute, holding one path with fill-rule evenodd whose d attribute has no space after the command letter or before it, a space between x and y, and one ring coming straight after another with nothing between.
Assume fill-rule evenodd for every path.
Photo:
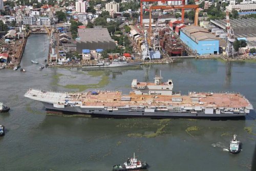
<instances>
[{"instance_id":1,"label":"large grey-roofed industrial shed right of the narrow dock inlet","mask_svg":"<svg viewBox=\"0 0 256 171\"><path fill-rule=\"evenodd\" d=\"M116 43L107 28L78 29L76 38L76 51L82 54L83 49L115 49Z\"/></svg>"}]
</instances>

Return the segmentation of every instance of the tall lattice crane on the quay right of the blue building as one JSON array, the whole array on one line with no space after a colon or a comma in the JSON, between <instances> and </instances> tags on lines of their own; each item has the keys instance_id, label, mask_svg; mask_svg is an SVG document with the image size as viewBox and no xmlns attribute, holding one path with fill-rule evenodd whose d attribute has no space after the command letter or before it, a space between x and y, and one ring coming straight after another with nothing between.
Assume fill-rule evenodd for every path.
<instances>
[{"instance_id":1,"label":"tall lattice crane on the quay right of the blue building","mask_svg":"<svg viewBox=\"0 0 256 171\"><path fill-rule=\"evenodd\" d=\"M227 57L234 57L234 47L233 47L233 42L235 41L234 39L234 31L230 26L229 23L229 11L226 10L226 20L227 20L227 47L226 47L226 55Z\"/></svg>"}]
</instances>

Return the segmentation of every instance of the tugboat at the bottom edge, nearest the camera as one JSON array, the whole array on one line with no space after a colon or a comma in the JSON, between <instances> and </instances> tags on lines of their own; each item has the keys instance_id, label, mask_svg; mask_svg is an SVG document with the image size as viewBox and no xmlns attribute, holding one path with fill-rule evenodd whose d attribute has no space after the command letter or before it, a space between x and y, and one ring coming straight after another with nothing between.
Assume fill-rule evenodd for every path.
<instances>
[{"instance_id":1,"label":"tugboat at the bottom edge, nearest the camera","mask_svg":"<svg viewBox=\"0 0 256 171\"><path fill-rule=\"evenodd\" d=\"M135 154L133 154L133 158L127 160L122 165L114 165L113 171L125 171L125 170L142 170L146 169L148 164L146 162L142 163L141 161L135 158Z\"/></svg>"}]
</instances>

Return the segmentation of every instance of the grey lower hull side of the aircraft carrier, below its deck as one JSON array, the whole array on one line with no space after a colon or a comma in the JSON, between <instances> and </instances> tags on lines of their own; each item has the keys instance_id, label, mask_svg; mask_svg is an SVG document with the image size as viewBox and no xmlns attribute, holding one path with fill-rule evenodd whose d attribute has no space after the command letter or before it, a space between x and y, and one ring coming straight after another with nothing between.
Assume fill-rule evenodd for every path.
<instances>
[{"instance_id":1,"label":"grey lower hull side of the aircraft carrier, below its deck","mask_svg":"<svg viewBox=\"0 0 256 171\"><path fill-rule=\"evenodd\" d=\"M42 102L48 113L59 114L81 114L91 115L92 117L111 117L111 118L135 118L135 117L148 117L148 118L245 118L244 114L205 114L190 113L190 112L144 112L144 109L131 111L131 109L119 109L118 111L107 111L104 109L89 108L82 109L79 106L65 106L65 108L55 108L53 104Z\"/></svg>"}]
</instances>

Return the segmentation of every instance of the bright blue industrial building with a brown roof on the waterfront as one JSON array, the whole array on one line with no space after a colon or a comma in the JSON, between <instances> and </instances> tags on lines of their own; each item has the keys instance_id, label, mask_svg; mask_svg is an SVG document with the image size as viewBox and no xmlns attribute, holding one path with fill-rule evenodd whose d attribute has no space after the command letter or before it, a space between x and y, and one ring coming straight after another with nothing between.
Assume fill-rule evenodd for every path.
<instances>
[{"instance_id":1,"label":"bright blue industrial building with a brown roof on the waterfront","mask_svg":"<svg viewBox=\"0 0 256 171\"><path fill-rule=\"evenodd\" d=\"M182 28L180 39L199 55L219 54L219 40L202 27Z\"/></svg>"}]
</instances>

